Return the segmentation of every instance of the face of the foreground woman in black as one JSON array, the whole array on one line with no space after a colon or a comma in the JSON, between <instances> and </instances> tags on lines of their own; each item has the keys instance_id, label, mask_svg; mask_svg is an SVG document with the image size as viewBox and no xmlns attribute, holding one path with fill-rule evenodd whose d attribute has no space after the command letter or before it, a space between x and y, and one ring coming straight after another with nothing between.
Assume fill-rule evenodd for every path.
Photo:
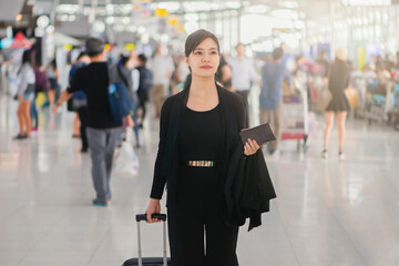
<instances>
[{"instance_id":1,"label":"face of the foreground woman in black","mask_svg":"<svg viewBox=\"0 0 399 266\"><path fill-rule=\"evenodd\" d=\"M205 39L186 59L193 75L214 76L219 65L217 44L211 38Z\"/></svg>"}]
</instances>

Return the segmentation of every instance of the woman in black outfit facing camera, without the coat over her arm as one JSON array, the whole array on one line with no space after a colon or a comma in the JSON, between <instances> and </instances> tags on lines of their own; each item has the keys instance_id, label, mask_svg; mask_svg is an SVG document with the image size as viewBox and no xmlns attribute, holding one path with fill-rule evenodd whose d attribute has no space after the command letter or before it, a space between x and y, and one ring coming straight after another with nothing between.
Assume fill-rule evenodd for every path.
<instances>
[{"instance_id":1,"label":"woman in black outfit facing camera, without the coat over her arm","mask_svg":"<svg viewBox=\"0 0 399 266\"><path fill-rule=\"evenodd\" d=\"M147 221L158 222L151 215L161 212L166 184L172 265L236 266L238 226L225 222L223 186L245 124L244 101L215 83L221 53L213 33L188 35L185 55L192 81L162 108ZM252 140L239 146L241 157L259 150Z\"/></svg>"}]
</instances>

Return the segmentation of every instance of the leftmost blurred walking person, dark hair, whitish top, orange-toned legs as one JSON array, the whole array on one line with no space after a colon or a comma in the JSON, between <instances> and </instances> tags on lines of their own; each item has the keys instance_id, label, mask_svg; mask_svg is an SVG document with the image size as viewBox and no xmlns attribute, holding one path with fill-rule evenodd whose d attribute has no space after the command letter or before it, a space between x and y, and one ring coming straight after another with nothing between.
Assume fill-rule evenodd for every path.
<instances>
[{"instance_id":1,"label":"leftmost blurred walking person, dark hair, whitish top, orange-toned legs","mask_svg":"<svg viewBox=\"0 0 399 266\"><path fill-rule=\"evenodd\" d=\"M19 105L17 110L18 122L20 126L20 132L14 140L23 140L30 136L31 134L31 104L34 101L34 89L35 89L35 78L34 70L32 66L32 51L27 50L22 54L22 63L17 73L18 76L18 91L17 99L19 100Z\"/></svg>"}]
</instances>

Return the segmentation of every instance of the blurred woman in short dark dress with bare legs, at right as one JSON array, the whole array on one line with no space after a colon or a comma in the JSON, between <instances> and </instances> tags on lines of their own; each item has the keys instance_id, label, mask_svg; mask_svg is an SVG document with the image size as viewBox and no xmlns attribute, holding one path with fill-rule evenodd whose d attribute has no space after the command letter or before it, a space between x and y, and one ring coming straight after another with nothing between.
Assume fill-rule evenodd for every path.
<instances>
[{"instance_id":1,"label":"blurred woman in short dark dress with bare legs, at right","mask_svg":"<svg viewBox=\"0 0 399 266\"><path fill-rule=\"evenodd\" d=\"M330 132L334 125L334 115L337 114L338 139L339 139L339 158L345 158L344 153L344 140L345 140L345 122L347 112L350 110L348 99L345 94L345 90L349 85L350 69L347 63L348 52L344 49L337 49L335 52L335 62L330 66L330 73L328 78L328 90L331 92L331 100L328 103L325 111L325 130L324 130L324 149L321 156L328 157L327 149Z\"/></svg>"}]
</instances>

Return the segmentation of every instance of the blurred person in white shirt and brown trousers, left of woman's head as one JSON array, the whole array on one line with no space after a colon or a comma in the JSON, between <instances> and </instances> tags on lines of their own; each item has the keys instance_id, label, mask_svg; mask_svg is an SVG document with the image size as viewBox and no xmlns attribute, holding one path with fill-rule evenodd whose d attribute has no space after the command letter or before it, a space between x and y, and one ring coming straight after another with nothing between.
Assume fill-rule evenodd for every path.
<instances>
[{"instance_id":1,"label":"blurred person in white shirt and brown trousers, left of woman's head","mask_svg":"<svg viewBox=\"0 0 399 266\"><path fill-rule=\"evenodd\" d=\"M149 69L153 73L153 88L151 98L155 108L156 117L161 116L161 108L168 94L168 86L172 73L174 71L173 60L166 54L165 48L158 44L154 57L149 63Z\"/></svg>"}]
</instances>

